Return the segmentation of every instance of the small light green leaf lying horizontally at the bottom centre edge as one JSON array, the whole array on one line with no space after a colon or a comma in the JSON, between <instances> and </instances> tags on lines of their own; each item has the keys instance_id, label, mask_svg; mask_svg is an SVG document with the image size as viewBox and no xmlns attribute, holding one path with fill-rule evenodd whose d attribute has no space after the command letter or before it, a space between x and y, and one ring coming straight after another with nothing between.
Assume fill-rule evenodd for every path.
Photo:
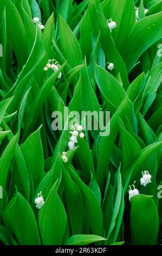
<instances>
[{"instance_id":1,"label":"small light green leaf lying horizontally at the bottom centre edge","mask_svg":"<svg viewBox=\"0 0 162 256\"><path fill-rule=\"evenodd\" d=\"M66 241L65 245L89 245L89 243L103 240L106 239L98 235L73 235Z\"/></svg>"}]
</instances>

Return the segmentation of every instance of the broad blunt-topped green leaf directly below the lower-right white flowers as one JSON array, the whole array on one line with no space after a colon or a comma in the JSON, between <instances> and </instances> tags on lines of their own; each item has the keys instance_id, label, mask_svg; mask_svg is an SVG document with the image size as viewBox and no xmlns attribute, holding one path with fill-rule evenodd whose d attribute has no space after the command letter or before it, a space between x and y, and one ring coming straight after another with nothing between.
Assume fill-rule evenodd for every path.
<instances>
[{"instance_id":1,"label":"broad blunt-topped green leaf directly below the lower-right white flowers","mask_svg":"<svg viewBox=\"0 0 162 256\"><path fill-rule=\"evenodd\" d=\"M155 245L159 217L150 196L139 194L131 198L131 244Z\"/></svg>"}]
</instances>

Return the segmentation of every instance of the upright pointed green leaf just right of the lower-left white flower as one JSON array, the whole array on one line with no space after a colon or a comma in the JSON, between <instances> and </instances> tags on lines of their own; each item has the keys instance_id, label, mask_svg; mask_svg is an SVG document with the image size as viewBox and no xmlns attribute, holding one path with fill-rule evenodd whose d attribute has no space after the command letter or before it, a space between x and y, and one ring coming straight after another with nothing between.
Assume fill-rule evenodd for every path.
<instances>
[{"instance_id":1,"label":"upright pointed green leaf just right of the lower-left white flower","mask_svg":"<svg viewBox=\"0 0 162 256\"><path fill-rule=\"evenodd\" d=\"M57 194L57 181L38 215L43 245L61 245L67 224L64 206Z\"/></svg>"}]
</instances>

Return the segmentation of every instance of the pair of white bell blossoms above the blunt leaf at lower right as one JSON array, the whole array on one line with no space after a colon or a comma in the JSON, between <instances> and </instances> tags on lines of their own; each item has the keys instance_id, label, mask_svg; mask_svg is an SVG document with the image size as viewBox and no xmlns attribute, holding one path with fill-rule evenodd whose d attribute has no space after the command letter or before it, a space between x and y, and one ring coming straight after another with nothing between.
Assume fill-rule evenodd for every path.
<instances>
[{"instance_id":1,"label":"pair of white bell blossoms above the blunt leaf at lower right","mask_svg":"<svg viewBox=\"0 0 162 256\"><path fill-rule=\"evenodd\" d=\"M140 184L144 185L144 187L151 182L151 174L148 172L148 170L144 170L144 172L142 172L142 178L140 179ZM135 181L134 181L135 183ZM133 187L133 190L132 190ZM137 190L137 188L134 187L134 184L132 186L129 186L129 200L131 199L131 197L137 196L137 194L139 194L139 191Z\"/></svg>"}]
</instances>

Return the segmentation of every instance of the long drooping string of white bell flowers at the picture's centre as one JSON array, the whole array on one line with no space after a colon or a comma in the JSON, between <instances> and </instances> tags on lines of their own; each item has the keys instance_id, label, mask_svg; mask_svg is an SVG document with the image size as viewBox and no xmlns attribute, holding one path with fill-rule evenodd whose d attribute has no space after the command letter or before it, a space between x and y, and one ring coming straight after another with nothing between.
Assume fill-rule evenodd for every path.
<instances>
[{"instance_id":1,"label":"long drooping string of white bell flowers at the picture's centre","mask_svg":"<svg viewBox=\"0 0 162 256\"><path fill-rule=\"evenodd\" d=\"M84 138L85 137L85 135L82 132L82 130L83 130L83 127L81 125L78 125L78 124L72 125L72 129L69 132L70 133L70 137L69 137L70 141L68 142L69 150L72 150L72 149L75 148L75 143L77 143L77 137L78 136L80 138ZM64 163L67 163L68 158L66 156L66 152L62 153L62 160L63 160Z\"/></svg>"}]
</instances>

